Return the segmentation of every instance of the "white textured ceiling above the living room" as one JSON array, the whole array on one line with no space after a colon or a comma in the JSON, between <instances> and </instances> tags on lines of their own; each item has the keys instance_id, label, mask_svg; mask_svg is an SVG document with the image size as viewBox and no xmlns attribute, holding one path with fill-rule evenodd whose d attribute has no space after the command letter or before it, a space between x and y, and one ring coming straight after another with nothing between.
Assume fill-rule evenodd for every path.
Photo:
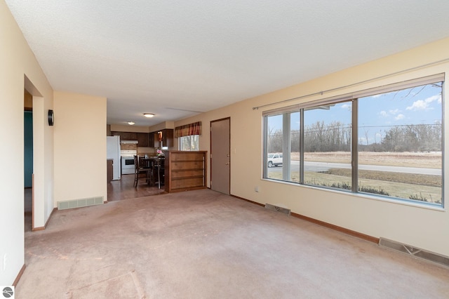
<instances>
[{"instance_id":1,"label":"white textured ceiling above the living room","mask_svg":"<svg viewBox=\"0 0 449 299\"><path fill-rule=\"evenodd\" d=\"M107 97L108 124L182 119L449 36L447 0L6 4L53 89Z\"/></svg>"}]
</instances>

